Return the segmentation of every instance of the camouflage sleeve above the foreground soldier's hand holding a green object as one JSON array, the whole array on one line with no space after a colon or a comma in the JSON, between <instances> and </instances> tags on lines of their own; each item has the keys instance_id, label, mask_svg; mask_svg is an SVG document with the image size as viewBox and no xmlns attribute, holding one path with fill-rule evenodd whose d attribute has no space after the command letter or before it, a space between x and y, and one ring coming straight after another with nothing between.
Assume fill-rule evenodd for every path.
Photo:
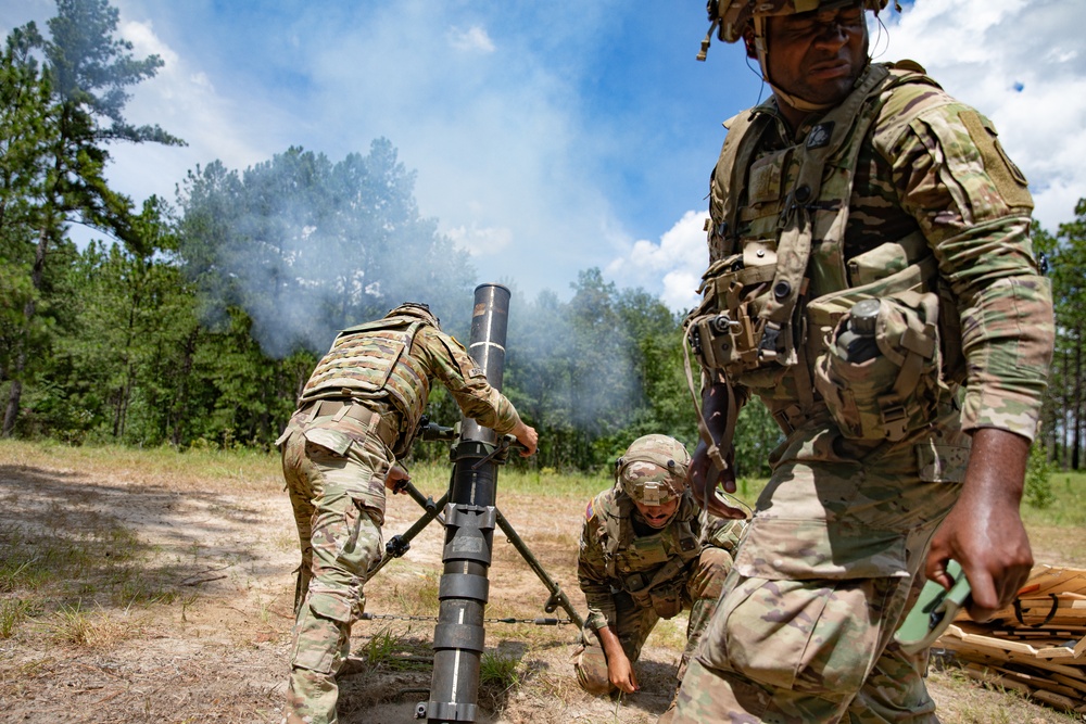
<instances>
[{"instance_id":1,"label":"camouflage sleeve above the foreground soldier's hand holding a green object","mask_svg":"<svg viewBox=\"0 0 1086 724\"><path fill-rule=\"evenodd\" d=\"M1025 177L990 122L945 94L889 128L876 131L876 148L888 141L880 151L893 166L902 207L920 225L958 304L967 366L962 427L1032 440L1055 323L1051 290L1030 240Z\"/></svg>"}]
</instances>

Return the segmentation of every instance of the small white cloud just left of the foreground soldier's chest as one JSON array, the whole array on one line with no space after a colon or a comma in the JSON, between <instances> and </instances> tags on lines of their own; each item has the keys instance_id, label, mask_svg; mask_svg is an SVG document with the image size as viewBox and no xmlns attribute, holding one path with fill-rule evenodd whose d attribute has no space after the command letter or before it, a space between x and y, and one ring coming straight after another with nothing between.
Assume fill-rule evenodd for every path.
<instances>
[{"instance_id":1,"label":"small white cloud just left of the foreground soldier's chest","mask_svg":"<svg viewBox=\"0 0 1086 724\"><path fill-rule=\"evenodd\" d=\"M643 287L656 291L673 310L697 304L697 285L708 263L705 244L705 219L708 212L686 212L668 229L659 243L645 239L630 244L621 256L607 265L609 277L623 287Z\"/></svg>"}]
</instances>

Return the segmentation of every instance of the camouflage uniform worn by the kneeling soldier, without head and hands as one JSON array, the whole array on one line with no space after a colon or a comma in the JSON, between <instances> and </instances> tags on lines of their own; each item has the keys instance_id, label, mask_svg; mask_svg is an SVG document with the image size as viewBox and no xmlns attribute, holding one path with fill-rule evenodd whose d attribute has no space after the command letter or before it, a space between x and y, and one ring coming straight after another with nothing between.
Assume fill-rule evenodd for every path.
<instances>
[{"instance_id":1,"label":"camouflage uniform worn by the kneeling soldier, without head and hands","mask_svg":"<svg viewBox=\"0 0 1086 724\"><path fill-rule=\"evenodd\" d=\"M653 437L664 435L641 440ZM658 470L634 462L623 482L630 485ZM681 679L731 570L744 526L744 521L707 517L689 487L682 490L675 513L662 529L654 529L641 518L622 483L590 500L577 558L577 576L589 606L581 645L573 657L581 688L594 695L615 690L596 633L599 628L615 631L632 663L657 621L687 610L687 645L677 674Z\"/></svg>"}]
</instances>

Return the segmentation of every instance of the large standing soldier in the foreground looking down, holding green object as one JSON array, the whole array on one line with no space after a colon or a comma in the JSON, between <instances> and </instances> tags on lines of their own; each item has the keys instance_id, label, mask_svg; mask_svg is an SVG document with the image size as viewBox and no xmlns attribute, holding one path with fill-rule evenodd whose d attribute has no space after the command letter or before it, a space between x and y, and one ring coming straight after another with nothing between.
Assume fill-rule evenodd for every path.
<instances>
[{"instance_id":1,"label":"large standing soldier in the foreground looking down, holding green object","mask_svg":"<svg viewBox=\"0 0 1086 724\"><path fill-rule=\"evenodd\" d=\"M674 721L937 721L926 655L892 638L924 579L957 559L984 620L1033 562L1019 503L1053 341L1033 202L987 118L870 61L885 5L709 3L773 96L725 123L712 174L695 498L740 515L706 494L734 490L752 394L785 440Z\"/></svg>"}]
</instances>

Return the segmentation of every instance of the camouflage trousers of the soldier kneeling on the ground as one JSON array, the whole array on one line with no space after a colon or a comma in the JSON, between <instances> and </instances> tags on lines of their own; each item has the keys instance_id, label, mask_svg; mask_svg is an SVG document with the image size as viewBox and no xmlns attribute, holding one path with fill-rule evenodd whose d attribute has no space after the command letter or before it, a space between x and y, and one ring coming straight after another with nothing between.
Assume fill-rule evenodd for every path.
<instances>
[{"instance_id":1,"label":"camouflage trousers of the soldier kneeling on the ground","mask_svg":"<svg viewBox=\"0 0 1086 724\"><path fill-rule=\"evenodd\" d=\"M731 567L732 557L727 550L709 546L691 569L684 595L684 608L690 609L690 620L686 624L686 649L677 674L680 679L702 632L709 623ZM639 606L624 592L615 594L615 607L617 621L611 625L627 658L634 662L641 657L641 648L659 621L659 615L652 608ZM581 645L573 655L573 670L577 683L589 694L602 696L616 690L607 675L607 657L594 628L585 626L581 631Z\"/></svg>"}]
</instances>

